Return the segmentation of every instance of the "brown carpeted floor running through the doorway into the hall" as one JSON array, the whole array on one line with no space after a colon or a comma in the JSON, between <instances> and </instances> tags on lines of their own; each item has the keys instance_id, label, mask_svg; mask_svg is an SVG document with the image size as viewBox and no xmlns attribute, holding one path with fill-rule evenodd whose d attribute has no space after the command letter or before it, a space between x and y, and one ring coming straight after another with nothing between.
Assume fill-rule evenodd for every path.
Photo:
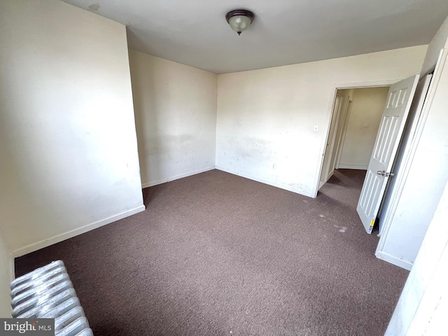
<instances>
[{"instance_id":1,"label":"brown carpeted floor running through the doorway into the hall","mask_svg":"<svg viewBox=\"0 0 448 336\"><path fill-rule=\"evenodd\" d=\"M383 335L408 272L374 257L364 172L316 199L214 170L144 190L146 211L15 260L61 259L94 335Z\"/></svg>"}]
</instances>

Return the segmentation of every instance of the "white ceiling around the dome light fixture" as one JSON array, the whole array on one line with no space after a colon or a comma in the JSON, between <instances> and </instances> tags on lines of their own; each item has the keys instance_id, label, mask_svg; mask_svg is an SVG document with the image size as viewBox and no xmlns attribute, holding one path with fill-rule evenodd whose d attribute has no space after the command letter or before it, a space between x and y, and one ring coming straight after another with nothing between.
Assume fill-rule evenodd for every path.
<instances>
[{"instance_id":1,"label":"white ceiling around the dome light fixture","mask_svg":"<svg viewBox=\"0 0 448 336\"><path fill-rule=\"evenodd\" d=\"M130 48L214 73L430 42L447 0L64 0L127 25ZM238 36L234 9L255 20Z\"/></svg>"}]
</instances>

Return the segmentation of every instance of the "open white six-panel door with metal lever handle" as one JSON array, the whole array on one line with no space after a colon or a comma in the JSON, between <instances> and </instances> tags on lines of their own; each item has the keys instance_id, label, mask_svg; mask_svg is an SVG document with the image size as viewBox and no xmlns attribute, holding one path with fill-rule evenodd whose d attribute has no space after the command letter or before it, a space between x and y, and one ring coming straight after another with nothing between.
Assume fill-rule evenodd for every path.
<instances>
[{"instance_id":1,"label":"open white six-panel door with metal lever handle","mask_svg":"<svg viewBox=\"0 0 448 336\"><path fill-rule=\"evenodd\" d=\"M393 176L391 167L405 129L418 81L419 75L416 75L395 83L389 89L358 207L356 207L367 233L372 232L387 181Z\"/></svg>"}]
</instances>

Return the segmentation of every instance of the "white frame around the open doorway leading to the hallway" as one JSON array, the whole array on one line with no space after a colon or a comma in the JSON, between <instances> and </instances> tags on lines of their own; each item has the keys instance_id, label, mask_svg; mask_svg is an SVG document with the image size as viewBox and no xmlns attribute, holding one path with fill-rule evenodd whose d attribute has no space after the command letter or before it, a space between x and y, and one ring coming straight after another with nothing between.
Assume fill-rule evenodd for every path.
<instances>
[{"instance_id":1,"label":"white frame around the open doorway leading to the hallway","mask_svg":"<svg viewBox=\"0 0 448 336\"><path fill-rule=\"evenodd\" d=\"M384 86L391 86L392 84L398 83L402 79L390 79L390 80L375 80L371 82L360 82L360 83L337 83L333 85L332 87L332 93L330 95L330 101L328 102L328 109L327 109L327 116L325 117L325 125L323 134L325 136L322 138L321 141L321 149L319 151L319 165L316 169L315 179L314 179L314 186L313 186L313 192L311 194L311 197L317 197L318 188L319 188L319 181L321 179L321 173L323 169L323 158L325 155L325 147L328 141L328 135L330 133L330 125L331 125L331 118L333 113L333 106L335 105L335 99L337 90L344 90L344 89L360 89L363 87L384 87Z\"/></svg>"}]
</instances>

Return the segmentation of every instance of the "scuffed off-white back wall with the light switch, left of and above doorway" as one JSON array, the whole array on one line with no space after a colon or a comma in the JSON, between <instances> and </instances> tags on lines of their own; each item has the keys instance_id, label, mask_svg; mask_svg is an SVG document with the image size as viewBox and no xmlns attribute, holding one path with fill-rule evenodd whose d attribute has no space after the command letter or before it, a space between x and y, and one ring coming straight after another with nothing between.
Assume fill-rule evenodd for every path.
<instances>
[{"instance_id":1,"label":"scuffed off-white back wall with the light switch, left of and above doorway","mask_svg":"<svg viewBox=\"0 0 448 336\"><path fill-rule=\"evenodd\" d=\"M315 196L337 85L412 76L426 48L218 75L216 167Z\"/></svg>"}]
</instances>

